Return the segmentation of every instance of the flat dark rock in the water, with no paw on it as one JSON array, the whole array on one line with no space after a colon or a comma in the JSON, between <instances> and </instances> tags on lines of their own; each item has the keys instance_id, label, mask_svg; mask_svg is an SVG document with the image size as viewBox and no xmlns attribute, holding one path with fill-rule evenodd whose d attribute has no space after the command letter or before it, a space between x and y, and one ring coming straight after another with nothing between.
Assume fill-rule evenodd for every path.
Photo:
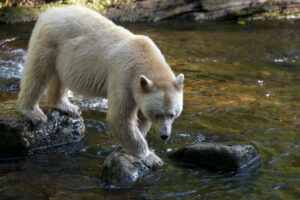
<instances>
[{"instance_id":1,"label":"flat dark rock in the water, with no paw on it","mask_svg":"<svg viewBox=\"0 0 300 200\"><path fill-rule=\"evenodd\" d=\"M249 166L259 155L251 145L197 143L168 152L168 157L185 166L230 172Z\"/></svg>"}]
</instances>

